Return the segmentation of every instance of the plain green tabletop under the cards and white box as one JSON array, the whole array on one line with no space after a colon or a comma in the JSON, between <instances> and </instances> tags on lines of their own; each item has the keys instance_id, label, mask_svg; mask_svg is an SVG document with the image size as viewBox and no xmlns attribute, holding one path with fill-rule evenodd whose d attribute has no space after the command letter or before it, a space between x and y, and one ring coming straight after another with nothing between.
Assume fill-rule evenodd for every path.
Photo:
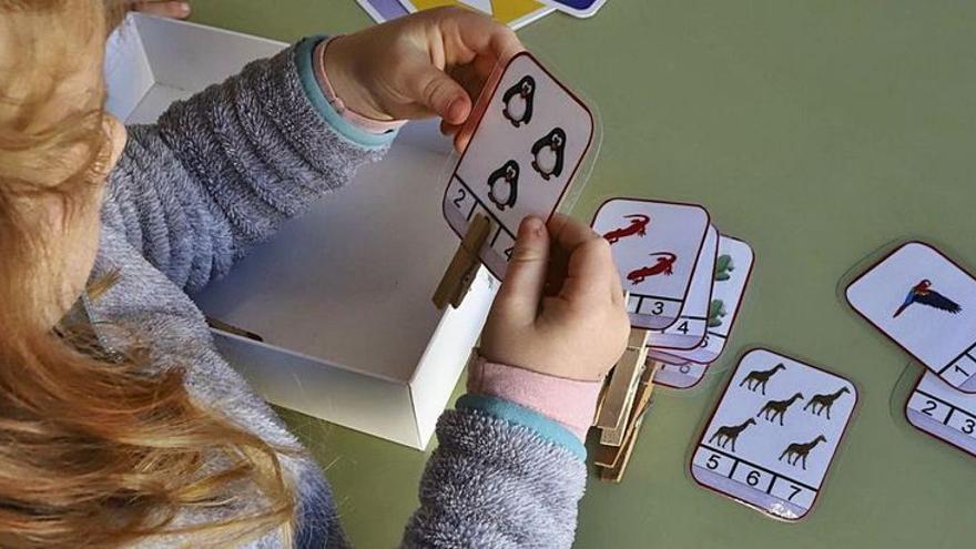
<instances>
[{"instance_id":1,"label":"plain green tabletop under the cards and white box","mask_svg":"<svg viewBox=\"0 0 976 549\"><path fill-rule=\"evenodd\" d=\"M192 20L279 40L372 21L353 0L196 0ZM576 213L609 196L704 204L756 253L703 386L661 390L622 485L591 477L577 547L972 547L976 459L901 414L915 372L838 282L895 238L976 265L976 3L610 0L520 37L600 112ZM690 447L741 352L850 377L861 405L817 506L784 523L698 487ZM359 547L393 547L428 454L283 410ZM433 445L431 445L433 446Z\"/></svg>"}]
</instances>

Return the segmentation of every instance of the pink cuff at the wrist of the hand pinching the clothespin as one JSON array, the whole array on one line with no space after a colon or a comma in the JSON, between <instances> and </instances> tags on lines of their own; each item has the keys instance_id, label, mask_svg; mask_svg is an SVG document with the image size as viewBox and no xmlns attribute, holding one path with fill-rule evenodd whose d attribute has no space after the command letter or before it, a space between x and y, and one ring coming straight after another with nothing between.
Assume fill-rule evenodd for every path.
<instances>
[{"instance_id":1,"label":"pink cuff at the wrist of the hand pinching the clothespin","mask_svg":"<svg viewBox=\"0 0 976 549\"><path fill-rule=\"evenodd\" d=\"M602 386L602 382L578 382L489 363L480 356L468 368L468 393L504 398L535 410L561 424L580 441L593 424Z\"/></svg>"}]
</instances>

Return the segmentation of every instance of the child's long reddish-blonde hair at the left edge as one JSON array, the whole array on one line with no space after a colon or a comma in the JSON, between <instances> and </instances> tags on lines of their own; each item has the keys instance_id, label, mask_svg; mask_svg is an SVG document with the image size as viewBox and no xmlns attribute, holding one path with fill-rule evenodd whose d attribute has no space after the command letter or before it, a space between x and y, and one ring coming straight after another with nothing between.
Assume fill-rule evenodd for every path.
<instances>
[{"instance_id":1,"label":"child's long reddish-blonde hair at the left edge","mask_svg":"<svg viewBox=\"0 0 976 549\"><path fill-rule=\"evenodd\" d=\"M110 153L104 90L57 121L39 124L38 114L51 112L59 82L83 64L79 52L94 51L85 44L103 42L122 12L104 0L0 0L0 546L173 535L230 543L274 529L287 541L295 489L278 453L292 450L195 401L180 368L149 368L139 340L106 356L89 325L52 329L24 291L47 253L24 204L57 196L71 215ZM82 161L65 164L67 151ZM253 512L177 526L184 511L243 508L255 492L263 504Z\"/></svg>"}]
</instances>

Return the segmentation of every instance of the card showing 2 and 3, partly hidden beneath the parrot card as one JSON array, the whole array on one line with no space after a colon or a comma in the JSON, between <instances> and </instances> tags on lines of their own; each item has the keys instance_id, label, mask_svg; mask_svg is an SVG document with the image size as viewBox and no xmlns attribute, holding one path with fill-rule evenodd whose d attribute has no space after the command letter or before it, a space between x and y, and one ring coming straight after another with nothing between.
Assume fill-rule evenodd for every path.
<instances>
[{"instance_id":1,"label":"card showing 2 and 3, partly hidden beneath the parrot card","mask_svg":"<svg viewBox=\"0 0 976 549\"><path fill-rule=\"evenodd\" d=\"M926 372L905 405L917 429L976 457L976 395L958 392Z\"/></svg>"}]
</instances>

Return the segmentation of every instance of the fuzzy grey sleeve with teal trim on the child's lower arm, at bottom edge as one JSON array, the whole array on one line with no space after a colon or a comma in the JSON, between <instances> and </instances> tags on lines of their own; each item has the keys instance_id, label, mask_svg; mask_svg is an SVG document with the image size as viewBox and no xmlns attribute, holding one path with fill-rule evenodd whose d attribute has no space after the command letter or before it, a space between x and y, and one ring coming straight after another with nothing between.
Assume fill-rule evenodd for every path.
<instances>
[{"instance_id":1,"label":"fuzzy grey sleeve with teal trim on the child's lower arm, at bottom edge","mask_svg":"<svg viewBox=\"0 0 976 549\"><path fill-rule=\"evenodd\" d=\"M438 421L403 547L572 546L586 487L579 439L515 403L465 395Z\"/></svg>"}]
</instances>

